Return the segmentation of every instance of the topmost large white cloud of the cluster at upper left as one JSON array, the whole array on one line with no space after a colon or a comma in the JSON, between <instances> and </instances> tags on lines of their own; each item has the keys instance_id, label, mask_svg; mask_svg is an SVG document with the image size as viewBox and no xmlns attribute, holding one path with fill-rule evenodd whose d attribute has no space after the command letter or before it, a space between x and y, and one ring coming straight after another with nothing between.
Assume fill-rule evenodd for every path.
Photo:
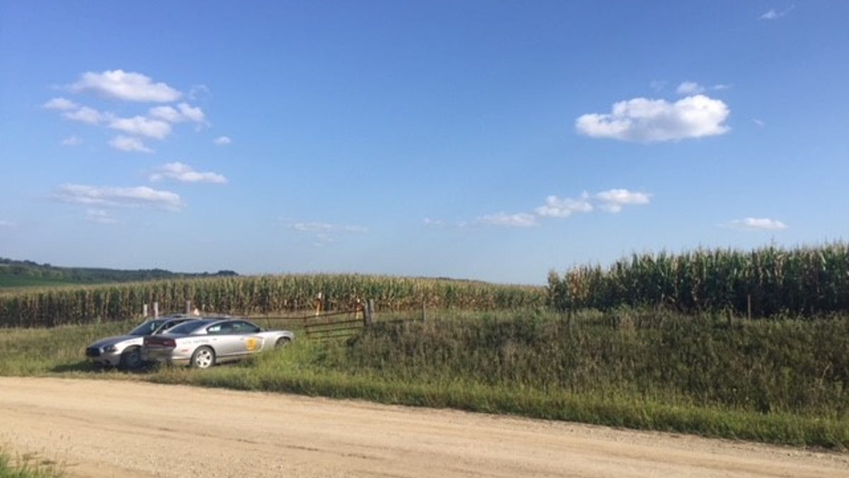
<instances>
[{"instance_id":1,"label":"topmost large white cloud of the cluster at upper left","mask_svg":"<svg viewBox=\"0 0 849 478\"><path fill-rule=\"evenodd\" d=\"M182 96L177 89L166 83L153 83L141 73L122 70L101 73L87 71L76 83L71 84L69 89L74 93L92 91L116 100L153 103L168 103L179 100Z\"/></svg>"}]
</instances>

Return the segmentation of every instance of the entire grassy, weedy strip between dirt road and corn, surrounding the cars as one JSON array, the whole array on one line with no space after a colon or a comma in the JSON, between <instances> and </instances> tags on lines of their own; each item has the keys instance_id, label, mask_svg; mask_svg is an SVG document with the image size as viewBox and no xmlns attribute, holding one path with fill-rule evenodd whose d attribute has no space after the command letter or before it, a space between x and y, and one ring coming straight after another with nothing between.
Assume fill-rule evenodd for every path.
<instances>
[{"instance_id":1,"label":"entire grassy, weedy strip between dirt road and corn, surrounding the cars","mask_svg":"<svg viewBox=\"0 0 849 478\"><path fill-rule=\"evenodd\" d=\"M87 372L82 348L116 324L10 329L0 332L0 373L140 378L849 445L849 316L729 324L724 316L628 309L571 318L543 310L428 315L378 322L346 342L296 340L235 366L151 373ZM10 352L11 342L22 345ZM24 350L45 356L24 366Z\"/></svg>"}]
</instances>

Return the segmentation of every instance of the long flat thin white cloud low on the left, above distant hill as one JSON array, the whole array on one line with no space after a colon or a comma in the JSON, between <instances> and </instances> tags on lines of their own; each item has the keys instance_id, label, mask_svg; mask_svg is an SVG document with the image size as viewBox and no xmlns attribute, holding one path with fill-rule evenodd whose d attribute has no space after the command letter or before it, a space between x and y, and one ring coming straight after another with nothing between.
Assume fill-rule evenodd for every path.
<instances>
[{"instance_id":1,"label":"long flat thin white cloud low on the left, above distant hill","mask_svg":"<svg viewBox=\"0 0 849 478\"><path fill-rule=\"evenodd\" d=\"M158 191L147 186L61 185L53 197L63 202L87 205L152 207L172 211L183 208L183 201L177 193Z\"/></svg>"}]
</instances>

